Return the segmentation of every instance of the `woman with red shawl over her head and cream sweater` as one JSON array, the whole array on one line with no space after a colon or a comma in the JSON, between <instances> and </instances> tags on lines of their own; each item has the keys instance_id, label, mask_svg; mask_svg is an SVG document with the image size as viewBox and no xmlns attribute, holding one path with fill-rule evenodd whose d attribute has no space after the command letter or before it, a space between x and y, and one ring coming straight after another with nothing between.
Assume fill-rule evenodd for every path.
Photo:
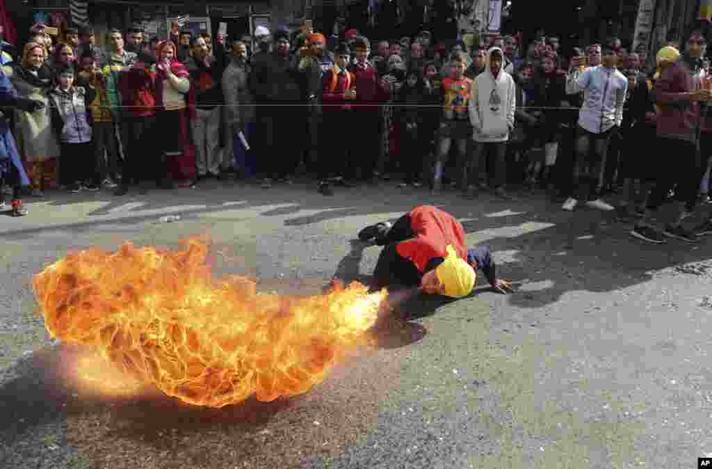
<instances>
[{"instance_id":1,"label":"woman with red shawl over her head and cream sweater","mask_svg":"<svg viewBox=\"0 0 712 469\"><path fill-rule=\"evenodd\" d=\"M195 179L195 153L190 148L187 133L187 121L194 110L194 96L188 71L176 58L174 43L157 43L156 60L156 135L162 136L162 158L166 170L162 187L170 189L174 177L189 181ZM180 130L181 138L169 138L177 130Z\"/></svg>"}]
</instances>

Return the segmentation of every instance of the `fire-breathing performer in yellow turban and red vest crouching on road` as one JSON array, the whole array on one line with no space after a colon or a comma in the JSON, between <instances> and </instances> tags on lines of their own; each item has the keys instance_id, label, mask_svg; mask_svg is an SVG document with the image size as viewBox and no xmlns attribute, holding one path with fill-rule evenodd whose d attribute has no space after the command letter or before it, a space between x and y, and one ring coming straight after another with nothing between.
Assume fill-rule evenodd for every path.
<instances>
[{"instance_id":1,"label":"fire-breathing performer in yellow turban and red vest crouching on road","mask_svg":"<svg viewBox=\"0 0 712 469\"><path fill-rule=\"evenodd\" d=\"M495 292L512 289L511 281L497 278L489 248L467 249L461 223L431 205L415 207L393 225L365 227L358 237L384 246L373 272L379 288L398 283L426 294L462 298L472 292L481 269Z\"/></svg>"}]
</instances>

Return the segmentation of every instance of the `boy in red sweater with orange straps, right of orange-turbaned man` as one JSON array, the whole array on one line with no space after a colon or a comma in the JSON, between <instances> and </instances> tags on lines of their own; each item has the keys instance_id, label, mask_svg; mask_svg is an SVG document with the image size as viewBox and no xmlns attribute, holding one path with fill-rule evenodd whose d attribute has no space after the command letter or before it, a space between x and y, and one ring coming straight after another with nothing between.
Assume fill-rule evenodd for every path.
<instances>
[{"instance_id":1,"label":"boy in red sweater with orange straps, right of orange-turbaned man","mask_svg":"<svg viewBox=\"0 0 712 469\"><path fill-rule=\"evenodd\" d=\"M319 192L333 195L329 187L329 177L344 168L347 161L347 147L341 141L344 128L352 128L352 105L356 99L356 77L346 67L351 58L349 46L340 43L334 53L335 64L324 73L322 103L324 112L324 133L319 149ZM337 168L339 165L341 168Z\"/></svg>"}]
</instances>

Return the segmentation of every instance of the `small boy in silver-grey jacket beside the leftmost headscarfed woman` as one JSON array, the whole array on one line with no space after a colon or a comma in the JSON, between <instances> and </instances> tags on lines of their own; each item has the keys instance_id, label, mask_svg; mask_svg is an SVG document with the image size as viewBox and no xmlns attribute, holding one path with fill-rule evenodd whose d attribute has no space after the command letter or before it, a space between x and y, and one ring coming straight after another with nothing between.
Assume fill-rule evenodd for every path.
<instances>
[{"instance_id":1,"label":"small boy in silver-grey jacket beside the leftmost headscarfed woman","mask_svg":"<svg viewBox=\"0 0 712 469\"><path fill-rule=\"evenodd\" d=\"M88 116L94 96L92 88L74 86L72 68L59 71L57 86L49 95L52 125L61 145L61 177L75 194L83 188L99 190Z\"/></svg>"}]
</instances>

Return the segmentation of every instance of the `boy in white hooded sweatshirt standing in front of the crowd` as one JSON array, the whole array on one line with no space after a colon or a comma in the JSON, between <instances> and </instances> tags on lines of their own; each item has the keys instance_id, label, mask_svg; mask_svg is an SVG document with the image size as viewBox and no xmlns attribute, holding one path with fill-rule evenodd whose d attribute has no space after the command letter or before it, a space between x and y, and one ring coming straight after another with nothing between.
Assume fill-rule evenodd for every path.
<instances>
[{"instance_id":1,"label":"boy in white hooded sweatshirt standing in front of the crowd","mask_svg":"<svg viewBox=\"0 0 712 469\"><path fill-rule=\"evenodd\" d=\"M480 180L481 187L486 187L485 156L493 152L495 158L494 174L491 187L496 195L508 198L505 192L507 141L514 128L514 110L516 107L516 87L512 76L503 70L504 53L501 48L493 47L488 51L485 71L476 76L472 86L469 103L470 122L473 127L473 155L469 168L468 195L474 196L477 187L472 184L473 177Z\"/></svg>"}]
</instances>

